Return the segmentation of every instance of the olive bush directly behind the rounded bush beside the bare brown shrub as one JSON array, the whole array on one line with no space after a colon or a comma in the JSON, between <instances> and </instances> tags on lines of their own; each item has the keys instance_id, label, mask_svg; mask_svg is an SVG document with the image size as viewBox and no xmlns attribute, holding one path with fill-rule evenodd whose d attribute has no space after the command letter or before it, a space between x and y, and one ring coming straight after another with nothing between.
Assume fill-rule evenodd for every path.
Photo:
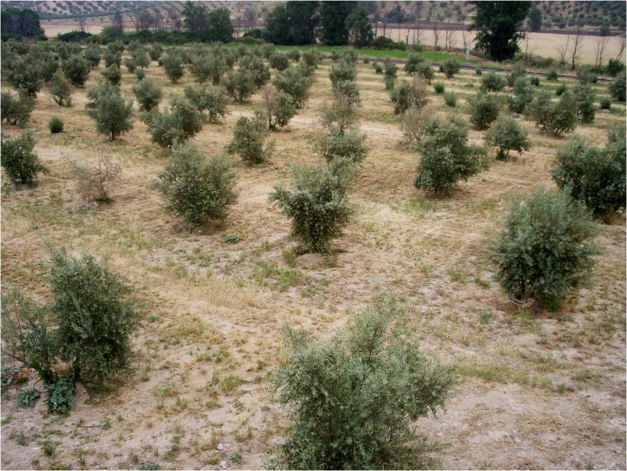
<instances>
[{"instance_id":1,"label":"olive bush directly behind the rounded bush beside the bare brown shrub","mask_svg":"<svg viewBox=\"0 0 627 471\"><path fill-rule=\"evenodd\" d=\"M204 124L201 111L186 98L174 98L169 111L150 114L150 139L157 145L168 148L184 142L201 132Z\"/></svg>"}]
</instances>

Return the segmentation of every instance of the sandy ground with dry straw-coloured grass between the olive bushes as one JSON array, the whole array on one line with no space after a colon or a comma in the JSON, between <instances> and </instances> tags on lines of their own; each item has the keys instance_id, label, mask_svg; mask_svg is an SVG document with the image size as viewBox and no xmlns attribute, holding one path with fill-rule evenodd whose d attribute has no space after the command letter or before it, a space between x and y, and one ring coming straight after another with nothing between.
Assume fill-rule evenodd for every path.
<instances>
[{"instance_id":1,"label":"sandy ground with dry straw-coloured grass between the olive bushes","mask_svg":"<svg viewBox=\"0 0 627 471\"><path fill-rule=\"evenodd\" d=\"M110 143L85 114L85 90L70 109L40 93L30 128L51 174L31 190L15 191L2 180L3 286L16 284L42 302L45 241L71 243L77 253L108 256L132 282L145 316L134 338L133 373L109 394L79 388L69 415L47 415L44 401L17 409L17 387L3 388L2 468L219 469L225 461L231 469L261 469L288 426L265 383L281 358L281 325L327 336L377 290L405 300L408 326L425 353L458 366L460 385L447 410L416 424L419 433L449 443L442 468L626 468L624 215L601 226L604 252L591 286L557 313L518 311L491 281L486 262L486 241L510 195L551 187L552 158L566 139L539 134L519 118L531 150L494 162L449 199L428 198L412 185L419 155L398 144L400 121L382 76L359 64L360 125L371 150L350 192L355 219L327 268L288 266L284 251L295 247L289 221L267 197L291 164L316 162L313 140L323 131L315 123L331 97L329 70L329 63L318 68L311 100L274 134L270 162L238 167L240 196L229 218L193 233L164 213L150 187L169 157L150 143L144 124L136 120L132 132ZM88 86L101 71L91 73ZM154 62L147 76L167 87L166 96L193 83L187 74L167 84ZM473 72L445 81L463 114L463 97L477 90L477 80ZM123 95L132 98L134 83L125 72ZM205 125L194 144L207 155L222 152L238 116L260 101L257 94L231 105L231 115ZM447 111L441 97L432 103ZM577 132L602 145L605 125L625 114L624 105L613 107L614 114L598 111L595 123ZM47 130L55 115L65 121L60 136ZM473 130L470 139L481 142L482 133ZM97 149L123 167L123 176L114 203L84 208L63 156L93 160ZM238 244L223 241L231 234ZM268 263L277 270L264 275ZM35 379L33 385L41 389Z\"/></svg>"}]
</instances>

